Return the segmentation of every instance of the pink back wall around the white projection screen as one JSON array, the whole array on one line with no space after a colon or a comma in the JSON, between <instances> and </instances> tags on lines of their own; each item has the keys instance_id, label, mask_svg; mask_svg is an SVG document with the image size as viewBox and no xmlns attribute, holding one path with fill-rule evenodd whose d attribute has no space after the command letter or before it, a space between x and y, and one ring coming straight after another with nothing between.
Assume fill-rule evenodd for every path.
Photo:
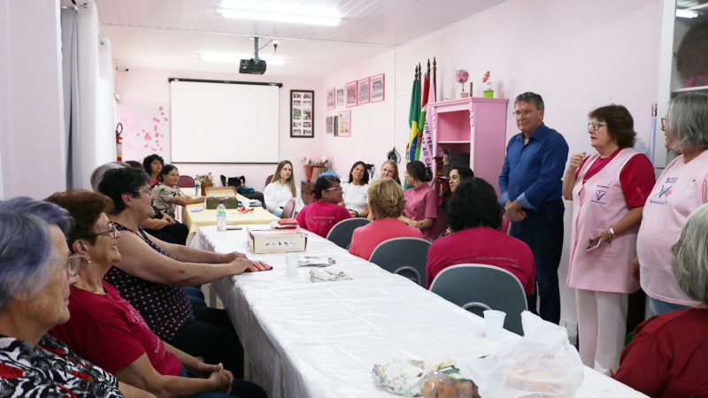
<instances>
[{"instance_id":1,"label":"pink back wall around the white projection screen","mask_svg":"<svg viewBox=\"0 0 708 398\"><path fill-rule=\"evenodd\" d=\"M235 66L236 70L236 66ZM225 74L225 73L196 73L196 72L174 72L174 71L152 71L131 68L129 72L117 72L118 92L121 105L150 105L169 106L170 104L170 83L168 78L182 79L208 79L208 80L248 80L248 81L268 81L279 82L281 88L280 100L280 158L289 160L295 168L296 179L304 178L304 167L297 160L304 154L319 154L322 152L321 136L325 134L325 121L320 115L324 114L325 101L324 92L321 90L321 80L284 78L270 76L254 76L248 74ZM289 95L291 89L315 90L315 138L290 138L290 102ZM169 134L169 132L167 132ZM169 160L169 149L167 154L162 155L165 161ZM238 158L238 149L235 149L235 159ZM139 160L142 159L126 159ZM180 173L194 176L212 172L215 178L224 174L227 177L246 176L246 185L263 191L266 177L275 172L275 165L177 165Z\"/></svg>"}]
</instances>

